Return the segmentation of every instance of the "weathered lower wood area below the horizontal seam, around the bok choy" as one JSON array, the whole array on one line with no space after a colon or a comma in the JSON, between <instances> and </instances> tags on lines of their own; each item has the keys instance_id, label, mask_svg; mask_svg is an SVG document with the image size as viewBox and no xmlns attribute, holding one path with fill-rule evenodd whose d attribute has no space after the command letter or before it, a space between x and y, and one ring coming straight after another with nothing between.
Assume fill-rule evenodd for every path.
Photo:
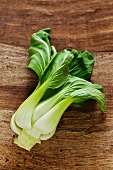
<instances>
[{"instance_id":1,"label":"weathered lower wood area below the horizontal seam, around the bok choy","mask_svg":"<svg viewBox=\"0 0 113 170\"><path fill-rule=\"evenodd\" d=\"M101 113L93 101L86 102L82 108L68 108L55 135L27 152L13 143L15 134L10 129L10 119L37 84L37 76L26 69L28 53L25 48L0 44L0 52L0 78L8 80L0 81L1 169L111 170L113 53L93 53L95 66L91 81L104 87L107 111Z\"/></svg>"}]
</instances>

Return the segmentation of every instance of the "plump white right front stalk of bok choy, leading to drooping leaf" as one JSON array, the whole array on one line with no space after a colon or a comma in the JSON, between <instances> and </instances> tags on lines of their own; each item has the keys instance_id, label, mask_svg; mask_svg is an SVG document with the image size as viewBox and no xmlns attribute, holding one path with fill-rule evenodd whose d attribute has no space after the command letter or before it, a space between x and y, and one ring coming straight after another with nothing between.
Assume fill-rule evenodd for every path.
<instances>
[{"instance_id":1,"label":"plump white right front stalk of bok choy, leading to drooping leaf","mask_svg":"<svg viewBox=\"0 0 113 170\"><path fill-rule=\"evenodd\" d=\"M41 134L51 133L58 125L61 116L68 106L74 101L72 97L68 97L57 105L55 105L50 111L48 111L44 116L38 119L33 127L36 128Z\"/></svg>"}]
</instances>

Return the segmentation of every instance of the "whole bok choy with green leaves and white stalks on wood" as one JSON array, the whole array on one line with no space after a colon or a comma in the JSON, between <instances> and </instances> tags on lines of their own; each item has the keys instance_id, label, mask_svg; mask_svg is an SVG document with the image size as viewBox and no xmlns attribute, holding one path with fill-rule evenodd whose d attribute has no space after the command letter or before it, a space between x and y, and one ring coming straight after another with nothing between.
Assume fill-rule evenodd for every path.
<instances>
[{"instance_id":1,"label":"whole bok choy with green leaves and white stalks on wood","mask_svg":"<svg viewBox=\"0 0 113 170\"><path fill-rule=\"evenodd\" d=\"M103 112L106 109L102 86L87 81L94 66L90 52L57 52L46 28L32 35L29 55L28 68L36 72L39 83L11 118L11 128L18 134L14 143L26 150L54 135L70 105L82 106L85 100L94 99Z\"/></svg>"}]
</instances>

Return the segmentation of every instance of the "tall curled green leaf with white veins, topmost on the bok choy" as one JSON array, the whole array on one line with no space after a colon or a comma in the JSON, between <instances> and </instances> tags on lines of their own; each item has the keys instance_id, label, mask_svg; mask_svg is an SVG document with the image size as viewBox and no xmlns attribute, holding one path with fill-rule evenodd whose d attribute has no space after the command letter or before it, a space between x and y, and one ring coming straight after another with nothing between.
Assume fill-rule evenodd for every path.
<instances>
[{"instance_id":1,"label":"tall curled green leaf with white veins, topmost on the bok choy","mask_svg":"<svg viewBox=\"0 0 113 170\"><path fill-rule=\"evenodd\" d=\"M28 68L34 70L39 78L44 74L48 65L56 55L56 49L50 45L50 28L34 33L29 48Z\"/></svg>"}]
</instances>

